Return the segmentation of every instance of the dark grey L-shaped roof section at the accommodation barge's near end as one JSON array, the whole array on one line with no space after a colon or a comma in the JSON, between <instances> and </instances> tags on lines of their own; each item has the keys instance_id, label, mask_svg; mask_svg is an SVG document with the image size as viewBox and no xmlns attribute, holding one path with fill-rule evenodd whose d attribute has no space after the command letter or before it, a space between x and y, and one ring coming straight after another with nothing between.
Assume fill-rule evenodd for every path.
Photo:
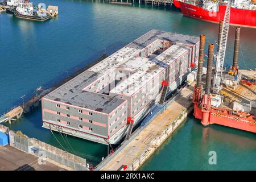
<instances>
[{"instance_id":1,"label":"dark grey L-shaped roof section at the accommodation barge's near end","mask_svg":"<svg viewBox=\"0 0 256 182\"><path fill-rule=\"evenodd\" d=\"M125 100L82 90L96 81L99 76L102 74L87 70L53 90L44 98L109 114Z\"/></svg>"}]
</instances>

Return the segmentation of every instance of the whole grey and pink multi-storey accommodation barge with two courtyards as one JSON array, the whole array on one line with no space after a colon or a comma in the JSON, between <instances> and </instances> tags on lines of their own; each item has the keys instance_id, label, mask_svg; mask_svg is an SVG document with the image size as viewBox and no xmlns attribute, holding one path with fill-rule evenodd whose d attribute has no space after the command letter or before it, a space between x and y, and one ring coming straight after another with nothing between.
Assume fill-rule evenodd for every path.
<instances>
[{"instance_id":1,"label":"whole grey and pink multi-storey accommodation barge with two courtyards","mask_svg":"<svg viewBox=\"0 0 256 182\"><path fill-rule=\"evenodd\" d=\"M151 30L44 96L43 127L118 143L160 101L165 86L170 93L185 80L198 55L199 38Z\"/></svg>"}]
</instances>

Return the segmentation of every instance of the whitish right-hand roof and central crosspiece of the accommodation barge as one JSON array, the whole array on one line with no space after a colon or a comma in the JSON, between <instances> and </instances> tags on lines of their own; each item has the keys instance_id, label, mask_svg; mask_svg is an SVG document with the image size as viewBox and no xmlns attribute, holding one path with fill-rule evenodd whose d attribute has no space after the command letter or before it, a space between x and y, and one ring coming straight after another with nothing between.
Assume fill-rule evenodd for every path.
<instances>
[{"instance_id":1,"label":"whitish right-hand roof and central crosspiece of the accommodation barge","mask_svg":"<svg viewBox=\"0 0 256 182\"><path fill-rule=\"evenodd\" d=\"M188 52L185 46L174 45L152 58L135 57L130 59L118 68L134 71L133 75L129 76L126 81L120 82L110 93L133 95L185 52Z\"/></svg>"}]
</instances>

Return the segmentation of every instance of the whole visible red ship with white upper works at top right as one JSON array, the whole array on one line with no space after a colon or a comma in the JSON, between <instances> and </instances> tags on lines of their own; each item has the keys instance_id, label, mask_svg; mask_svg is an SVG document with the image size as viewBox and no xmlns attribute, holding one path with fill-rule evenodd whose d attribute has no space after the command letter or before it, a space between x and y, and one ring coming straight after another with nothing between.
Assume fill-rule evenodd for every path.
<instances>
[{"instance_id":1,"label":"whole visible red ship with white upper works at top right","mask_svg":"<svg viewBox=\"0 0 256 182\"><path fill-rule=\"evenodd\" d=\"M230 24L234 26L256 27L256 1L233 0L174 0L174 5L185 16L218 23L224 19L228 2L230 2Z\"/></svg>"}]
</instances>

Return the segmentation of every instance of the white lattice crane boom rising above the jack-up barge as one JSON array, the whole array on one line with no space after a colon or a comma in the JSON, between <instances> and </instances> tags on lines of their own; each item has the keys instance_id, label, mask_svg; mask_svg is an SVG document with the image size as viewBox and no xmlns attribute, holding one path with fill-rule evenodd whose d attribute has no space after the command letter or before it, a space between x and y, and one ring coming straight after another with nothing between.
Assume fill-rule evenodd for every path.
<instances>
[{"instance_id":1,"label":"white lattice crane boom rising above the jack-up barge","mask_svg":"<svg viewBox=\"0 0 256 182\"><path fill-rule=\"evenodd\" d=\"M224 58L226 53L226 43L228 40L228 33L229 33L230 7L231 7L231 2L228 1L228 3L226 4L226 11L225 11L223 25L222 25L220 45L218 45L219 49L217 53L215 73L213 77L213 86L212 86L213 93L218 93L218 91L221 89L221 76L222 76Z\"/></svg>"}]
</instances>

